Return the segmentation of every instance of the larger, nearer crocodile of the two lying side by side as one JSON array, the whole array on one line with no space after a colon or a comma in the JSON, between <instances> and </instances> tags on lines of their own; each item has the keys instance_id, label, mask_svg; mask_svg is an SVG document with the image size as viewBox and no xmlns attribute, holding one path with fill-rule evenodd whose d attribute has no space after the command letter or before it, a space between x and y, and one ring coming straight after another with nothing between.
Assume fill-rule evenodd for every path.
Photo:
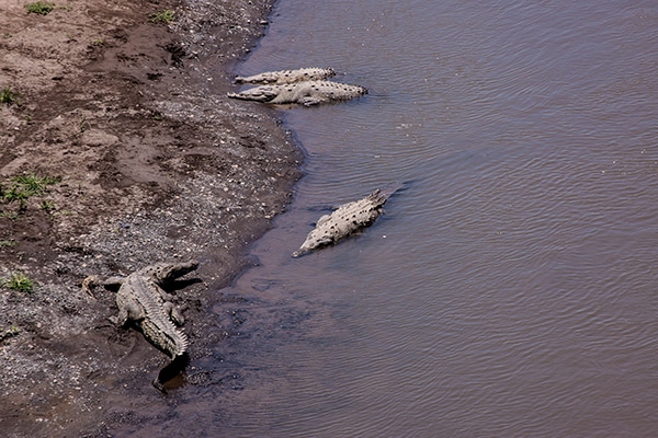
<instances>
[{"instance_id":1,"label":"larger, nearer crocodile of the two lying side by side","mask_svg":"<svg viewBox=\"0 0 658 438\"><path fill-rule=\"evenodd\" d=\"M367 94L367 89L360 85L331 81L305 81L254 87L239 93L228 93L228 96L271 104L310 106L332 101L348 101L364 94Z\"/></svg>"}]
</instances>

